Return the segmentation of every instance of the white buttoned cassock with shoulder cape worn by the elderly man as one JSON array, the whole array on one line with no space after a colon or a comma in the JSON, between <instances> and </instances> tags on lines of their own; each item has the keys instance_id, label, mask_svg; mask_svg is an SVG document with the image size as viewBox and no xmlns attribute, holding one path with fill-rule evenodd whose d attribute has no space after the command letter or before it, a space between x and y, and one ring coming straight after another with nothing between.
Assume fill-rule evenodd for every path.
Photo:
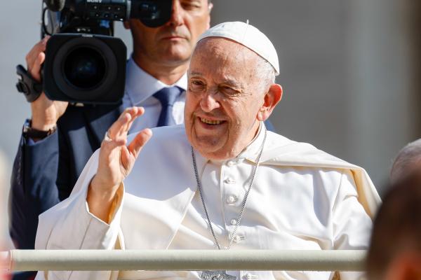
<instances>
[{"instance_id":1,"label":"white buttoned cassock with shoulder cape worn by the elderly man","mask_svg":"<svg viewBox=\"0 0 421 280\"><path fill-rule=\"evenodd\" d=\"M263 127L263 126L262 126ZM210 161L196 152L204 200L221 246L241 210L264 129L237 158ZM89 160L72 195L39 216L37 249L214 249L182 125L159 127L121 188L112 221L89 213ZM365 249L380 204L361 167L267 132L246 210L230 250ZM118 244L118 245L116 245ZM333 272L228 272L237 279L332 279ZM37 279L199 279L200 272L39 272ZM341 279L359 279L344 272Z\"/></svg>"}]
</instances>

